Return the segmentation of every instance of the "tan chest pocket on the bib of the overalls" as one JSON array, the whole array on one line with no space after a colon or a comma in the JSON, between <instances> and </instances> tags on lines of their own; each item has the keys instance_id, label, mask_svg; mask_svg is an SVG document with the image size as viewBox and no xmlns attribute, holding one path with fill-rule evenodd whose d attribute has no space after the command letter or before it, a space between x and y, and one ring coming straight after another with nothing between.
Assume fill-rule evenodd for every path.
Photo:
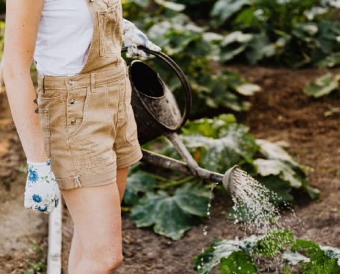
<instances>
[{"instance_id":1,"label":"tan chest pocket on the bib of the overalls","mask_svg":"<svg viewBox=\"0 0 340 274\"><path fill-rule=\"evenodd\" d=\"M102 57L117 57L122 48L122 4L113 1L106 10L98 10L99 52Z\"/></svg>"}]
</instances>

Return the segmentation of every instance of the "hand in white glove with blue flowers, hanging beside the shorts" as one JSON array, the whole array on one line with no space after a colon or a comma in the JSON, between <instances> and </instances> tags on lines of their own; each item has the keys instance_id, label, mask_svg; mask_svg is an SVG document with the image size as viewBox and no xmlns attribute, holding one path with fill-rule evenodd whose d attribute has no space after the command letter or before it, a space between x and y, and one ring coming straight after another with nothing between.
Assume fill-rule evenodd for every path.
<instances>
[{"instance_id":1,"label":"hand in white glove with blue flowers, hanging beside the shorts","mask_svg":"<svg viewBox=\"0 0 340 274\"><path fill-rule=\"evenodd\" d=\"M28 175L25 187L24 206L27 209L52 213L58 206L60 190L51 170L51 162L27 161Z\"/></svg>"}]
</instances>

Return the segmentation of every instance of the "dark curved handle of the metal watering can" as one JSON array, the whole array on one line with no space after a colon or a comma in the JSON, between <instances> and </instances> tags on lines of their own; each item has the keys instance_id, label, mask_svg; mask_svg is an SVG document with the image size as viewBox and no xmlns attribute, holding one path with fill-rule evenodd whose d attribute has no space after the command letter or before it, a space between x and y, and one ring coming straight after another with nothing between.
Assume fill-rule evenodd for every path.
<instances>
[{"instance_id":1,"label":"dark curved handle of the metal watering can","mask_svg":"<svg viewBox=\"0 0 340 274\"><path fill-rule=\"evenodd\" d=\"M177 77L179 77L179 80L181 81L181 84L182 84L183 89L184 89L185 105L184 105L183 115L182 115L182 119L181 119L181 126L183 126L185 124L185 122L188 120L190 110L191 110L191 106L192 106L191 89L190 89L190 86L188 84L187 79L185 78L183 71L178 66L178 64L176 64L176 62L174 62L174 60L172 60L168 55L166 55L166 54L164 54L160 51L150 51L150 49L147 49L146 47L143 47L143 46L138 46L138 49L141 49L141 50L145 51L146 53L150 53L152 55L155 55L159 59L166 62L166 64L168 64L168 66L170 66L172 71L174 71L174 73L176 73ZM127 50L128 50L128 47L123 47L122 53L126 52Z\"/></svg>"}]
</instances>

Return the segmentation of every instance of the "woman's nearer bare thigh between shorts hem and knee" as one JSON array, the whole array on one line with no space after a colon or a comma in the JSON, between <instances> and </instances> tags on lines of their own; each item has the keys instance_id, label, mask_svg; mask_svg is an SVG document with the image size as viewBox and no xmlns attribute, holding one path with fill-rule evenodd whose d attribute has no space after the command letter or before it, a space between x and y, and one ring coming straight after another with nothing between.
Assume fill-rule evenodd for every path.
<instances>
[{"instance_id":1,"label":"woman's nearer bare thigh between shorts hem and knee","mask_svg":"<svg viewBox=\"0 0 340 274\"><path fill-rule=\"evenodd\" d=\"M77 227L83 256L95 258L104 252L120 258L122 221L117 184L62 190L62 194Z\"/></svg>"}]
</instances>

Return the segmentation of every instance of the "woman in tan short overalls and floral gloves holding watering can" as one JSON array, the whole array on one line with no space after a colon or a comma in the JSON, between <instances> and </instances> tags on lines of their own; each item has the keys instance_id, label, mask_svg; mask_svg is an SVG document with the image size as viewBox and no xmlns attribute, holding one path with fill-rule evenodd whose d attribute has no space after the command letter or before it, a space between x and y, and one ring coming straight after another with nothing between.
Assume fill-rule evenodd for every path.
<instances>
[{"instance_id":1,"label":"woman in tan short overalls and floral gloves holding watering can","mask_svg":"<svg viewBox=\"0 0 340 274\"><path fill-rule=\"evenodd\" d=\"M141 158L122 40L129 55L160 50L120 0L7 0L4 80L29 167L25 207L52 212L60 188L74 223L70 274L122 262L120 202Z\"/></svg>"}]
</instances>

